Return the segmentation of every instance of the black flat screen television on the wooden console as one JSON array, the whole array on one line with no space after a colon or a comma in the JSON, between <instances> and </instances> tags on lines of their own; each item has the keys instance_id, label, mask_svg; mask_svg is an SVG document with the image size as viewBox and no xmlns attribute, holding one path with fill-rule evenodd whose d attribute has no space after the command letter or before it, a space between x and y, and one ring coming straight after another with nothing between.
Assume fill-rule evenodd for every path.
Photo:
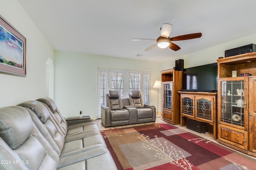
<instances>
[{"instance_id":1,"label":"black flat screen television on the wooden console","mask_svg":"<svg viewBox=\"0 0 256 170\"><path fill-rule=\"evenodd\" d=\"M183 79L183 81L185 80L184 83L186 84L183 84L183 88L186 87L186 89L182 91L217 92L217 63L185 68L184 74L186 74L186 79Z\"/></svg>"}]
</instances>

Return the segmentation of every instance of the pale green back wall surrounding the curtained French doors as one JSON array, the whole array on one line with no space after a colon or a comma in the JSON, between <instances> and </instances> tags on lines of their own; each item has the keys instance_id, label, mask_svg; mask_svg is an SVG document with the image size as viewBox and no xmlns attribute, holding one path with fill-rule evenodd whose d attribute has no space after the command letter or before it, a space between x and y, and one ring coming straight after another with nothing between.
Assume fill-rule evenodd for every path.
<instances>
[{"instance_id":1,"label":"pale green back wall surrounding the curtained French doors","mask_svg":"<svg viewBox=\"0 0 256 170\"><path fill-rule=\"evenodd\" d=\"M114 57L55 52L55 93L58 109L65 116L97 116L98 67L151 70L150 86L161 80L161 63ZM157 89L150 91L150 104L157 106ZM159 100L160 107L160 100Z\"/></svg>"}]
</instances>

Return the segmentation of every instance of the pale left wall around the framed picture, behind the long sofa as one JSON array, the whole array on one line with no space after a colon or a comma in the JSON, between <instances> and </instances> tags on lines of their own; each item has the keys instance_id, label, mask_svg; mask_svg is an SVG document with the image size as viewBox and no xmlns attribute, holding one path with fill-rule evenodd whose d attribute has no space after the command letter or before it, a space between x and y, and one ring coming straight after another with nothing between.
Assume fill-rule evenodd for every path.
<instances>
[{"instance_id":1,"label":"pale left wall around the framed picture, behind the long sofa","mask_svg":"<svg viewBox=\"0 0 256 170\"><path fill-rule=\"evenodd\" d=\"M0 107L48 97L46 61L54 50L17 0L1 0L0 15L26 37L26 77L0 74Z\"/></svg>"}]
</instances>

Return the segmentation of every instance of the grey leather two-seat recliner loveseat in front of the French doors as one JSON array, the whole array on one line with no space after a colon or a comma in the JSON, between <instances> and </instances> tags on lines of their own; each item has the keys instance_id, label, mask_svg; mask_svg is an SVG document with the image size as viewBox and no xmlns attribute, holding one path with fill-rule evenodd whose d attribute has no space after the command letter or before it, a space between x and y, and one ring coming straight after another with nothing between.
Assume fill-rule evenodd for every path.
<instances>
[{"instance_id":1,"label":"grey leather two-seat recliner loveseat in front of the French doors","mask_svg":"<svg viewBox=\"0 0 256 170\"><path fill-rule=\"evenodd\" d=\"M122 98L119 90L106 94L106 106L101 106L104 127L156 121L156 107L144 104L139 90L132 90L129 98Z\"/></svg>"}]
</instances>

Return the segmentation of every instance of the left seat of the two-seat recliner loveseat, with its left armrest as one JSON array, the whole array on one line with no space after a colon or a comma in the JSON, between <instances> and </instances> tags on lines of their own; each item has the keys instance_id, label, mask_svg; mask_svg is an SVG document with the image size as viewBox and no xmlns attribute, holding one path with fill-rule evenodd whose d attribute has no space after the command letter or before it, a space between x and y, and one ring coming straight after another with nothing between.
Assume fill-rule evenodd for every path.
<instances>
[{"instance_id":1,"label":"left seat of the two-seat recliner loveseat, with its left armrest","mask_svg":"<svg viewBox=\"0 0 256 170\"><path fill-rule=\"evenodd\" d=\"M124 109L119 90L109 90L106 106L101 106L101 121L104 127L129 124L129 111Z\"/></svg>"}]
</instances>

